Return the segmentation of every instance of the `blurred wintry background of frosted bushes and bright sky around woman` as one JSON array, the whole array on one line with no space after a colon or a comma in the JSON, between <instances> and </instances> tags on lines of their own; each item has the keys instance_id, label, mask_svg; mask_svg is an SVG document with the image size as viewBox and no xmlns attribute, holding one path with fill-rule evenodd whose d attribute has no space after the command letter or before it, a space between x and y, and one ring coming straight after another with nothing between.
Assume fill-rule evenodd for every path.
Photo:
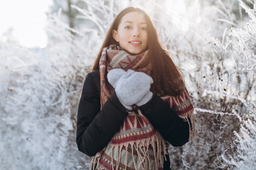
<instances>
[{"instance_id":1,"label":"blurred wintry background of frosted bushes and bright sky around woman","mask_svg":"<svg viewBox=\"0 0 256 170\"><path fill-rule=\"evenodd\" d=\"M84 170L76 114L115 16L141 7L182 69L197 137L173 170L256 170L256 0L0 3L0 169Z\"/></svg>"}]
</instances>

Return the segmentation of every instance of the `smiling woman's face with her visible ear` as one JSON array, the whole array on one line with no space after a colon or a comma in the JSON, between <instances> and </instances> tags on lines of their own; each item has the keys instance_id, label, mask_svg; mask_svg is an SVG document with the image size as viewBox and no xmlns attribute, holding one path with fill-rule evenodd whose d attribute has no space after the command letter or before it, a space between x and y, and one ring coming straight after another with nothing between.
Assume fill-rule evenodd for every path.
<instances>
[{"instance_id":1,"label":"smiling woman's face with her visible ear","mask_svg":"<svg viewBox=\"0 0 256 170\"><path fill-rule=\"evenodd\" d=\"M121 49L132 55L140 54L148 47L146 19L139 12L124 15L117 30L112 31L112 35L119 42Z\"/></svg>"}]
</instances>

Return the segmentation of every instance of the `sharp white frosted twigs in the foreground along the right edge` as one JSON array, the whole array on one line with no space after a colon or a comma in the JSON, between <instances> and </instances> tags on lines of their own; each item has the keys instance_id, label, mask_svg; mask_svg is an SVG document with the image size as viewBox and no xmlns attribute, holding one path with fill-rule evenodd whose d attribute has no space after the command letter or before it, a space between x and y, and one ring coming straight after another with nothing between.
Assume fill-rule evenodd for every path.
<instances>
[{"instance_id":1,"label":"sharp white frosted twigs in the foreground along the right edge","mask_svg":"<svg viewBox=\"0 0 256 170\"><path fill-rule=\"evenodd\" d=\"M234 89L232 97L240 101L240 129L234 131L234 144L220 155L223 167L232 169L256 169L256 4L251 9L244 2L240 5L250 20L244 28L232 28L226 46L232 44L229 54L234 63L233 73L225 75L225 81ZM233 42L233 43L231 43Z\"/></svg>"}]
</instances>

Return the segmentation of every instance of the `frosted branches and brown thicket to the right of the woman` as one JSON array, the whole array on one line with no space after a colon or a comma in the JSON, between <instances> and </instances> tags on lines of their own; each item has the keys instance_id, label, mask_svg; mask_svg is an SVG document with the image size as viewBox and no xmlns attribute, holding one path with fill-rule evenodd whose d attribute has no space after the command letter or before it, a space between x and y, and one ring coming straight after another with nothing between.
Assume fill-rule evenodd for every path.
<instances>
[{"instance_id":1,"label":"frosted branches and brown thicket to the right of the woman","mask_svg":"<svg viewBox=\"0 0 256 170\"><path fill-rule=\"evenodd\" d=\"M213 32L209 29L206 32L192 24L192 29L200 30L200 36L204 41L200 41L200 38L193 38L197 41L190 43L191 51L185 54L179 51L183 55L194 56L192 64L197 62L194 67L197 71L191 71L189 79L193 82L192 86L196 85L195 92L198 93L192 95L196 106L198 137L183 147L179 157L182 158L182 163L177 160L179 164L183 164L179 166L181 169L184 167L186 169L243 169L243 166L251 169L249 167L254 167L252 165L255 162L255 152L243 146L250 146L251 150L255 150L255 146L251 143L255 140L253 129L255 129L256 113L255 2L250 5L254 7L253 9L250 9L243 1L239 2L239 7L249 14L244 15L243 20L234 18L235 15L227 10L229 6L226 7L221 1L218 3L220 5L218 10L216 10L218 4L212 6L213 8L207 8L212 10L211 15L220 17L213 20L216 22L214 25L218 24L213 28L218 30ZM229 3L226 1L226 4ZM216 15L214 12L221 15ZM223 15L224 13L230 15ZM236 24L230 21L235 21ZM205 22L204 26L207 24L211 26L209 21ZM222 37L218 33L221 31ZM198 45L197 43L202 44L201 49L195 47L194 44ZM182 55L180 53L178 55ZM188 60L189 57L181 58ZM241 117L244 117L243 121ZM252 120L249 126L244 122L247 119ZM244 138L246 135L242 135L246 133L249 138ZM238 134L241 136L238 137ZM226 150L226 148L232 149ZM226 150L225 154L222 154L224 150ZM252 159L245 160L243 155L247 153ZM220 163L216 155L222 155L221 158L226 161L225 166Z\"/></svg>"}]
</instances>

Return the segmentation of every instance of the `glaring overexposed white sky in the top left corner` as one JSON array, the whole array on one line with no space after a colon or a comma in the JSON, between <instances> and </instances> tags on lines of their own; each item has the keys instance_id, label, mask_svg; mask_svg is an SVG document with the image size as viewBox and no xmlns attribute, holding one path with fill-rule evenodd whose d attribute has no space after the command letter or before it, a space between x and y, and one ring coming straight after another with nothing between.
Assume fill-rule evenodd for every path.
<instances>
[{"instance_id":1,"label":"glaring overexposed white sky in the top left corner","mask_svg":"<svg viewBox=\"0 0 256 170\"><path fill-rule=\"evenodd\" d=\"M44 48L45 12L52 0L0 0L0 35L13 28L13 35L27 47Z\"/></svg>"}]
</instances>

